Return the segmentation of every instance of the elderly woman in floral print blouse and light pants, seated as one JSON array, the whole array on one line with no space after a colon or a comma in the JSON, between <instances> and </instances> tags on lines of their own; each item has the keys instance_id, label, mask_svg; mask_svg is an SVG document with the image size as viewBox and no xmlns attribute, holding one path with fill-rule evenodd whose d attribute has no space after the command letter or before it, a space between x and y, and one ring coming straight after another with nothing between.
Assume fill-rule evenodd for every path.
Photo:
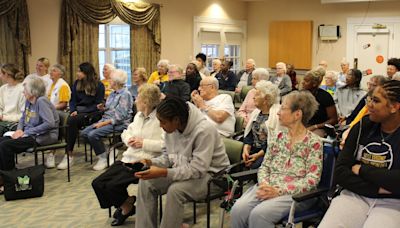
<instances>
[{"instance_id":1,"label":"elderly woman in floral print blouse and light pants, seated","mask_svg":"<svg viewBox=\"0 0 400 228\"><path fill-rule=\"evenodd\" d=\"M232 227L273 228L289 213L292 195L317 187L322 172L322 141L304 126L317 107L309 92L294 91L283 98L278 115L287 130L268 136L268 153L258 170L258 184L234 204Z\"/></svg>"}]
</instances>

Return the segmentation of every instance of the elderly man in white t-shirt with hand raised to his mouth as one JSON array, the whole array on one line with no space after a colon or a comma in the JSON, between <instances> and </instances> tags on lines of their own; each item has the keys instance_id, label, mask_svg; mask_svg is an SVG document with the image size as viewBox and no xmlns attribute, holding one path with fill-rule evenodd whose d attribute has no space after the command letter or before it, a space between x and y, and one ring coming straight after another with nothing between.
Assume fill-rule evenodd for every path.
<instances>
[{"instance_id":1,"label":"elderly man in white t-shirt with hand raised to his mouth","mask_svg":"<svg viewBox=\"0 0 400 228\"><path fill-rule=\"evenodd\" d=\"M229 136L235 129L235 107L231 96L218 95L218 80L206 77L200 82L199 90L191 94L193 103L203 112L207 120L215 124L218 132Z\"/></svg>"}]
</instances>

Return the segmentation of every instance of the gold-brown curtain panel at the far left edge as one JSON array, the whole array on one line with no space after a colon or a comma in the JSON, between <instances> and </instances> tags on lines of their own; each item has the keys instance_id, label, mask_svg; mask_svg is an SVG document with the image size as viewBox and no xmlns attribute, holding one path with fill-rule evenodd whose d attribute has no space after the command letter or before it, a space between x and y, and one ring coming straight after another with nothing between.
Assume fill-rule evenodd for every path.
<instances>
[{"instance_id":1,"label":"gold-brown curtain panel at the far left edge","mask_svg":"<svg viewBox=\"0 0 400 228\"><path fill-rule=\"evenodd\" d=\"M15 63L26 74L31 54L26 0L0 0L0 64Z\"/></svg>"}]
</instances>

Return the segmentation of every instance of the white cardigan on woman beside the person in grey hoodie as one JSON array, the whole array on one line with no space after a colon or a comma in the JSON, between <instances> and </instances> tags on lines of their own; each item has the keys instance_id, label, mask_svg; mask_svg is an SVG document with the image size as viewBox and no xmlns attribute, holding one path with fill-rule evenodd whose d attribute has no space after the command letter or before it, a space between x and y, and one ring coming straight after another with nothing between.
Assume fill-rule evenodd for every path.
<instances>
[{"instance_id":1,"label":"white cardigan on woman beside the person in grey hoodie","mask_svg":"<svg viewBox=\"0 0 400 228\"><path fill-rule=\"evenodd\" d=\"M160 121L156 117L156 110L145 118L143 113L138 112L129 124L128 129L122 132L121 138L128 149L123 153L122 162L133 163L143 159L151 159L161 154L164 145L162 138L163 130ZM131 137L143 138L142 148L133 148L128 145Z\"/></svg>"}]
</instances>

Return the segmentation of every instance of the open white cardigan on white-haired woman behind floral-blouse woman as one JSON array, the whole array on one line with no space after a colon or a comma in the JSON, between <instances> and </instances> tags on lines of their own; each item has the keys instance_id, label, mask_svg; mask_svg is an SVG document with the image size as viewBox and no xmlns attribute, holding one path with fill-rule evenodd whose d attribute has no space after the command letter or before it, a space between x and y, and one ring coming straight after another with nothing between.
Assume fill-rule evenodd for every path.
<instances>
[{"instance_id":1,"label":"open white cardigan on white-haired woman behind floral-blouse woman","mask_svg":"<svg viewBox=\"0 0 400 228\"><path fill-rule=\"evenodd\" d=\"M265 125L267 126L268 129L268 141L270 139L269 136L271 136L274 131L282 128L282 126L279 124L279 117L278 117L278 112L280 108L281 108L280 104L273 104L269 109L269 116L267 121L265 121ZM257 116L258 114L260 114L260 112L261 110L256 108L250 114L249 122L247 122L246 128L244 130L244 137L246 137L250 133L251 128L253 126L253 121L257 119Z\"/></svg>"}]
</instances>

